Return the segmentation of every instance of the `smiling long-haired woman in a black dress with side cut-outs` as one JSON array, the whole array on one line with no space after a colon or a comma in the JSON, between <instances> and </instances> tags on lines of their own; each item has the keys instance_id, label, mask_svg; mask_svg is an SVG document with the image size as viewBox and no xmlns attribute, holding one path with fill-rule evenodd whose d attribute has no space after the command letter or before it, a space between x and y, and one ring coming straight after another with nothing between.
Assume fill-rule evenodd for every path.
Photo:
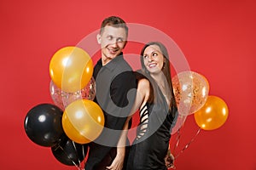
<instances>
[{"instance_id":1,"label":"smiling long-haired woman in a black dress with side cut-outs","mask_svg":"<svg viewBox=\"0 0 256 170\"><path fill-rule=\"evenodd\" d=\"M172 127L177 118L177 105L172 91L172 78L166 47L160 42L147 43L141 52L142 70L137 72L137 99L140 124L131 145L129 170L166 170L172 166L168 155Z\"/></svg>"}]
</instances>

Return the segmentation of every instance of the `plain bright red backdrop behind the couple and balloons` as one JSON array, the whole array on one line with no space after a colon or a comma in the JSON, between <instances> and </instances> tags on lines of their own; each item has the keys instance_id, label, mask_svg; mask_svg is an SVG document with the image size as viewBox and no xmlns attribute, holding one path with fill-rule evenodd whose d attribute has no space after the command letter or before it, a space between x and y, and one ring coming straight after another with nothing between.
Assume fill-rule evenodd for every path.
<instances>
[{"instance_id":1,"label":"plain bright red backdrop behind the couple and balloons","mask_svg":"<svg viewBox=\"0 0 256 170\"><path fill-rule=\"evenodd\" d=\"M209 94L229 106L224 126L201 131L177 157L177 170L256 169L254 2L1 0L0 168L76 169L56 161L49 148L32 143L23 122L33 106L52 103L49 59L55 51L76 45L105 17L119 15L172 37L191 70L207 77ZM194 116L189 116L180 149L197 129Z\"/></svg>"}]
</instances>

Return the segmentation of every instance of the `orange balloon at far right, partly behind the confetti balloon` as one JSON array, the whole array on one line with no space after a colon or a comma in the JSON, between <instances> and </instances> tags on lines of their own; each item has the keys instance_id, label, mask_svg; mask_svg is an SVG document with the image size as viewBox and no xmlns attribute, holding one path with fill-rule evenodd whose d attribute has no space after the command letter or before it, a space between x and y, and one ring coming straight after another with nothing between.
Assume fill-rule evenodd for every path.
<instances>
[{"instance_id":1,"label":"orange balloon at far right, partly behind the confetti balloon","mask_svg":"<svg viewBox=\"0 0 256 170\"><path fill-rule=\"evenodd\" d=\"M228 106L223 99L217 96L208 96L206 104L194 114L196 124L204 130L221 127L228 115Z\"/></svg>"}]
</instances>

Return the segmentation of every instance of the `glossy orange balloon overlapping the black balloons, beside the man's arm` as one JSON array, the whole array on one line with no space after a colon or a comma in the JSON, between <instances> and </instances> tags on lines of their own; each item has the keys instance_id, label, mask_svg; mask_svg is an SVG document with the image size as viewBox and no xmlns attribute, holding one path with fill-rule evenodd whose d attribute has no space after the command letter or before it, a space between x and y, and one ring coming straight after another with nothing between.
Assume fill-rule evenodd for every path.
<instances>
[{"instance_id":1,"label":"glossy orange balloon overlapping the black balloons, beside the man's arm","mask_svg":"<svg viewBox=\"0 0 256 170\"><path fill-rule=\"evenodd\" d=\"M67 137L79 144L95 140L102 133L104 122L102 109L89 99L79 99L67 105L62 116Z\"/></svg>"}]
</instances>

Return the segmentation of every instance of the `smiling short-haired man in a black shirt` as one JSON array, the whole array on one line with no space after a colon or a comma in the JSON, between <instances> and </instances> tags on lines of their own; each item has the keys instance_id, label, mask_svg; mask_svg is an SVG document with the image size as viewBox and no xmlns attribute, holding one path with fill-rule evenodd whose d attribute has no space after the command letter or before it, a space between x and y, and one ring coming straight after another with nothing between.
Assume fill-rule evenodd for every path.
<instances>
[{"instance_id":1,"label":"smiling short-haired man in a black shirt","mask_svg":"<svg viewBox=\"0 0 256 170\"><path fill-rule=\"evenodd\" d=\"M125 158L123 129L136 97L136 78L123 58L128 37L125 21L116 16L102 21L97 42L102 48L93 77L96 80L96 103L101 106L105 125L101 135L89 144L85 170L122 169ZM125 125L125 126L124 126ZM117 147L117 146L120 147ZM124 166L125 167L125 166Z\"/></svg>"}]
</instances>

